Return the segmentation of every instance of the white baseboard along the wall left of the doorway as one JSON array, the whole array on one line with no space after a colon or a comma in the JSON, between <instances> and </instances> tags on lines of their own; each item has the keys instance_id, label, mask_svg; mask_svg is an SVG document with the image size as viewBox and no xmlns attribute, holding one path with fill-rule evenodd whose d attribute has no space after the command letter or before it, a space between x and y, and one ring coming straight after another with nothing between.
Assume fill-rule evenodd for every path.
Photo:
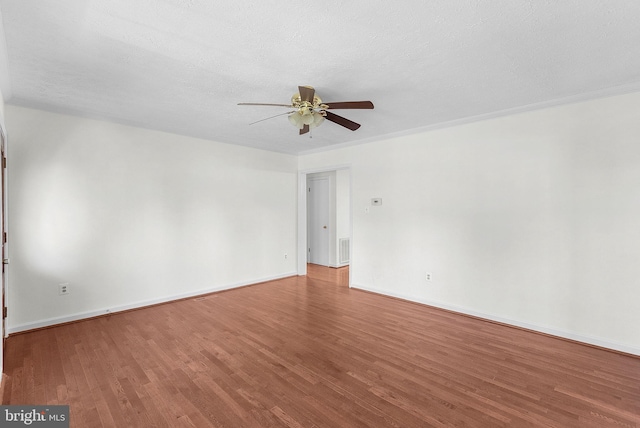
<instances>
[{"instance_id":1,"label":"white baseboard along the wall left of the doorway","mask_svg":"<svg viewBox=\"0 0 640 428\"><path fill-rule=\"evenodd\" d=\"M261 282L266 282L266 281L273 281L276 279L282 279L282 278L287 278L290 276L297 276L296 272L289 272L283 275L277 275L277 276L272 276L272 277L268 277L268 278L261 278L261 279L257 279L254 281L247 281L247 282L238 282L235 284L227 284L227 285L223 285L220 287L213 287L213 288L205 288L205 289L200 289L200 290L196 290L196 291L190 291L188 293L180 293L180 294L174 294L171 296L165 296L165 297L161 297L161 298L157 298L157 299L150 299L150 300L141 300L138 302L133 302L133 303L128 303L126 305L120 305L120 306L115 306L112 308L103 308L103 309L98 309L95 311L87 311L87 312L79 312L79 313L75 313L75 314L71 314L71 315L65 315L62 317L55 317L55 318L47 318L47 319L43 319L43 320L39 320L39 321L35 321L35 322L30 322L30 323L25 323L25 324L19 324L19 325L14 325L14 326L7 326L7 334L13 334L13 333L19 333L21 331L28 331L28 330L34 330L34 329L38 329L38 328L44 328L44 327L51 327L57 324L64 324L67 322L73 322L73 321L80 321L83 319L87 319L87 318L93 318L93 317L98 317L98 316L102 316L102 315L109 315L109 314L115 314L118 312L122 312L122 311L128 311L131 309L140 309L140 308L144 308L145 306L152 306L152 305L157 305L159 303L167 303L167 302L171 302L174 300L181 300L181 299L187 299L190 297L196 297L196 296L201 296L203 294L210 294L210 293L215 293L217 291L224 291L224 290L231 290L234 288L238 288L238 287L245 287L247 285L253 285L253 284L259 284Z\"/></svg>"}]
</instances>

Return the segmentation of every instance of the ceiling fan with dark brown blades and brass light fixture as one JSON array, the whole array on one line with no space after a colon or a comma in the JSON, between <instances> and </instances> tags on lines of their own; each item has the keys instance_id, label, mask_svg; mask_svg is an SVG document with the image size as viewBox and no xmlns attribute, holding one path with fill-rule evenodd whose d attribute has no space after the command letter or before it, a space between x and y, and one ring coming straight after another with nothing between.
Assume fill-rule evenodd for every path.
<instances>
[{"instance_id":1,"label":"ceiling fan with dark brown blades and brass light fixture","mask_svg":"<svg viewBox=\"0 0 640 428\"><path fill-rule=\"evenodd\" d=\"M289 115L289 122L300 129L300 135L306 134L311 128L320 126L320 124L324 122L325 119L333 123L337 123L338 125L344 126L347 129L355 131L356 129L360 128L359 123L355 123L347 118L338 116L337 114L328 110L373 108L373 103L371 101L341 101L335 103L323 103L320 97L316 95L316 90L311 86L298 86L298 91L299 92L297 94L293 94L293 96L291 97L291 104L238 103L238 105L292 108L292 111L282 113L282 115Z\"/></svg>"}]
</instances>

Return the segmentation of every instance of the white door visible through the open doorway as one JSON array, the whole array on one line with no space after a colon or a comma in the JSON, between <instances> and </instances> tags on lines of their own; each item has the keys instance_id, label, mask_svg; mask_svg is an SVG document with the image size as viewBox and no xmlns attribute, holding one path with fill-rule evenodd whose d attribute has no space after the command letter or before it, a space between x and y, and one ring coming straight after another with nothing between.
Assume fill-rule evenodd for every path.
<instances>
[{"instance_id":1,"label":"white door visible through the open doorway","mask_svg":"<svg viewBox=\"0 0 640 428\"><path fill-rule=\"evenodd\" d=\"M328 178L307 181L307 243L309 263L329 266L330 193Z\"/></svg>"}]
</instances>

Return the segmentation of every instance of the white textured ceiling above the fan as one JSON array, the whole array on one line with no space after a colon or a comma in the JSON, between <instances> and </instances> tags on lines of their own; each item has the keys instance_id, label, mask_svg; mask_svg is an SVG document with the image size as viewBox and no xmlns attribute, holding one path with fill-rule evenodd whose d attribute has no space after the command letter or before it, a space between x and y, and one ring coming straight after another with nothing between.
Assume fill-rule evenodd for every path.
<instances>
[{"instance_id":1,"label":"white textured ceiling above the fan","mask_svg":"<svg viewBox=\"0 0 640 428\"><path fill-rule=\"evenodd\" d=\"M0 0L0 12L8 104L284 153L640 90L638 0ZM249 125L286 109L237 105L288 103L298 85L376 107L336 110L362 127L325 122L309 138L286 116Z\"/></svg>"}]
</instances>

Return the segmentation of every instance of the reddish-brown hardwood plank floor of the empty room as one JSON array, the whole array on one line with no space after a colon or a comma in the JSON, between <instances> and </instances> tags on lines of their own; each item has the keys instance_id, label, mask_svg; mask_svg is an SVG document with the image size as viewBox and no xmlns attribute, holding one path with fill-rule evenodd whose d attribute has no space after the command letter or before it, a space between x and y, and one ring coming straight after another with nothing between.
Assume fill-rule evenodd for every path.
<instances>
[{"instance_id":1,"label":"reddish-brown hardwood plank floor of the empty room","mask_svg":"<svg viewBox=\"0 0 640 428\"><path fill-rule=\"evenodd\" d=\"M70 404L82 428L640 427L640 358L341 275L11 336L2 402Z\"/></svg>"}]
</instances>

